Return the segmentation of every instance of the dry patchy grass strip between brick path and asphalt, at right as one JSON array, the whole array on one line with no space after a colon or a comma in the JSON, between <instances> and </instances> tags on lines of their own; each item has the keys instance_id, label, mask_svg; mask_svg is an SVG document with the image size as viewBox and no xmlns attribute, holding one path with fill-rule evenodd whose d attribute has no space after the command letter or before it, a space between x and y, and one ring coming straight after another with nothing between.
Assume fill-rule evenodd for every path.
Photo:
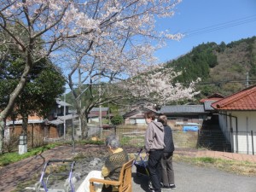
<instances>
[{"instance_id":1,"label":"dry patchy grass strip between brick path and asphalt, at right","mask_svg":"<svg viewBox=\"0 0 256 192\"><path fill-rule=\"evenodd\" d=\"M195 166L215 167L220 171L231 172L237 175L256 176L256 164L249 161L222 160L212 157L188 157L179 154L174 154L173 160Z\"/></svg>"}]
</instances>

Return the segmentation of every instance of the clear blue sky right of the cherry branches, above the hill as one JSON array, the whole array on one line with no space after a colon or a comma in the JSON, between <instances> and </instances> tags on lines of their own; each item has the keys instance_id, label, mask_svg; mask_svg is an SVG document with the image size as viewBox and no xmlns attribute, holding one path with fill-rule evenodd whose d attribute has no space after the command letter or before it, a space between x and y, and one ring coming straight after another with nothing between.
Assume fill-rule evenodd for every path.
<instances>
[{"instance_id":1,"label":"clear blue sky right of the cherry branches, above the hill","mask_svg":"<svg viewBox=\"0 0 256 192\"><path fill-rule=\"evenodd\" d=\"M183 0L175 15L157 20L156 27L187 35L156 52L160 62L170 61L202 43L229 44L256 36L256 0Z\"/></svg>"}]
</instances>

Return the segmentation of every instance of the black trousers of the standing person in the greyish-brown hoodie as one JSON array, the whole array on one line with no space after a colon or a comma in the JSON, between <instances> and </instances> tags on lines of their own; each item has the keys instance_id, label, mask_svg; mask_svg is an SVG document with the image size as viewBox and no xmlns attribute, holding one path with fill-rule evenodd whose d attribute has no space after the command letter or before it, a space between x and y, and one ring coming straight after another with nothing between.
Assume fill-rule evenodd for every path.
<instances>
[{"instance_id":1,"label":"black trousers of the standing person in the greyish-brown hoodie","mask_svg":"<svg viewBox=\"0 0 256 192\"><path fill-rule=\"evenodd\" d=\"M149 152L148 171L149 177L155 192L160 192L161 181L161 158L163 150L154 150Z\"/></svg>"}]
</instances>

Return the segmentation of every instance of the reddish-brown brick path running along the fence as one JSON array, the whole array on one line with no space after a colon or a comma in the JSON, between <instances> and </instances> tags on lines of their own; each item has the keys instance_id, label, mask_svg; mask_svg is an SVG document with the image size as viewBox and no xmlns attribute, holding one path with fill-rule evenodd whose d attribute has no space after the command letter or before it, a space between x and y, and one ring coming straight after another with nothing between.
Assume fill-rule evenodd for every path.
<instances>
[{"instance_id":1,"label":"reddish-brown brick path running along the fence","mask_svg":"<svg viewBox=\"0 0 256 192\"><path fill-rule=\"evenodd\" d=\"M138 148L125 148L128 153L137 153ZM0 167L0 191L1 192L10 192L15 189L18 183L22 183L24 181L29 180L30 178L34 177L36 173L40 174L42 172L44 163L47 160L51 159L71 159L76 154L81 152L85 153L92 153L98 150L105 151L104 146L97 146L97 145L84 145L84 146L77 146L75 151L73 151L72 146L61 146L54 149L50 149L45 151L42 154L38 154L31 158L27 158L26 160L20 160L14 164L9 166ZM73 153L75 152L75 153ZM256 162L256 155L248 155L248 154L231 154L231 153L224 153L224 152L216 152L216 151L208 151L208 150L182 150L177 149L176 154L180 155L189 155L195 157L201 156L208 156L208 157L215 157L215 158L222 158L228 160L247 160L251 162ZM146 178L147 179L147 178ZM200 179L200 178L197 178ZM143 189L139 184L134 181L134 188L135 189ZM143 190L133 190L133 191L143 191ZM201 191L201 190L197 190ZM225 191L225 190L222 190ZM238 190L236 190L238 191ZM250 191L250 190L244 190ZM256 187L254 192L256 191ZM184 191L183 191L184 192Z\"/></svg>"}]
</instances>

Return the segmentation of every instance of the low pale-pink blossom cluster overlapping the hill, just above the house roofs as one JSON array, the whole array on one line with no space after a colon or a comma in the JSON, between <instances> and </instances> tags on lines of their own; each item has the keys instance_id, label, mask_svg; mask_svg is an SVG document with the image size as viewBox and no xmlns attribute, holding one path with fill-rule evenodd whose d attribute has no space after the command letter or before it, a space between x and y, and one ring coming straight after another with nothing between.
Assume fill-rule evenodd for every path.
<instances>
[{"instance_id":1,"label":"low pale-pink blossom cluster overlapping the hill, just above the house roofs","mask_svg":"<svg viewBox=\"0 0 256 192\"><path fill-rule=\"evenodd\" d=\"M133 79L125 82L125 90L129 90L134 97L144 98L157 106L163 106L170 102L183 99L193 99L199 94L195 91L196 79L189 85L174 83L174 79L181 73L176 73L172 67L156 66L151 71L141 73Z\"/></svg>"}]
</instances>

